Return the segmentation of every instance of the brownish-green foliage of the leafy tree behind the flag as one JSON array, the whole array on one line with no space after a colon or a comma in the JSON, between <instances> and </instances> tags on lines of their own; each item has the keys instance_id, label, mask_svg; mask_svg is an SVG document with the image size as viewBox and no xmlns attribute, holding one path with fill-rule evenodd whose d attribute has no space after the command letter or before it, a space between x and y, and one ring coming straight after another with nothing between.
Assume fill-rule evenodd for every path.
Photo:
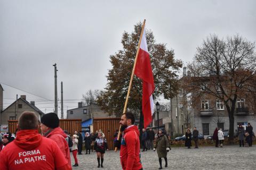
<instances>
[{"instance_id":1,"label":"brownish-green foliage of the leafy tree behind the flag","mask_svg":"<svg viewBox=\"0 0 256 170\"><path fill-rule=\"evenodd\" d=\"M105 90L98 97L98 104L110 115L120 116L123 113L141 28L142 24L137 23L131 33L125 31L122 36L123 49L110 56L113 68L108 72ZM176 78L182 61L175 60L174 51L167 49L165 44L157 44L152 31L146 30L146 38L155 82L153 97L163 95L165 99L170 99L178 91ZM134 76L127 110L140 113L141 103L142 82Z\"/></svg>"}]
</instances>

